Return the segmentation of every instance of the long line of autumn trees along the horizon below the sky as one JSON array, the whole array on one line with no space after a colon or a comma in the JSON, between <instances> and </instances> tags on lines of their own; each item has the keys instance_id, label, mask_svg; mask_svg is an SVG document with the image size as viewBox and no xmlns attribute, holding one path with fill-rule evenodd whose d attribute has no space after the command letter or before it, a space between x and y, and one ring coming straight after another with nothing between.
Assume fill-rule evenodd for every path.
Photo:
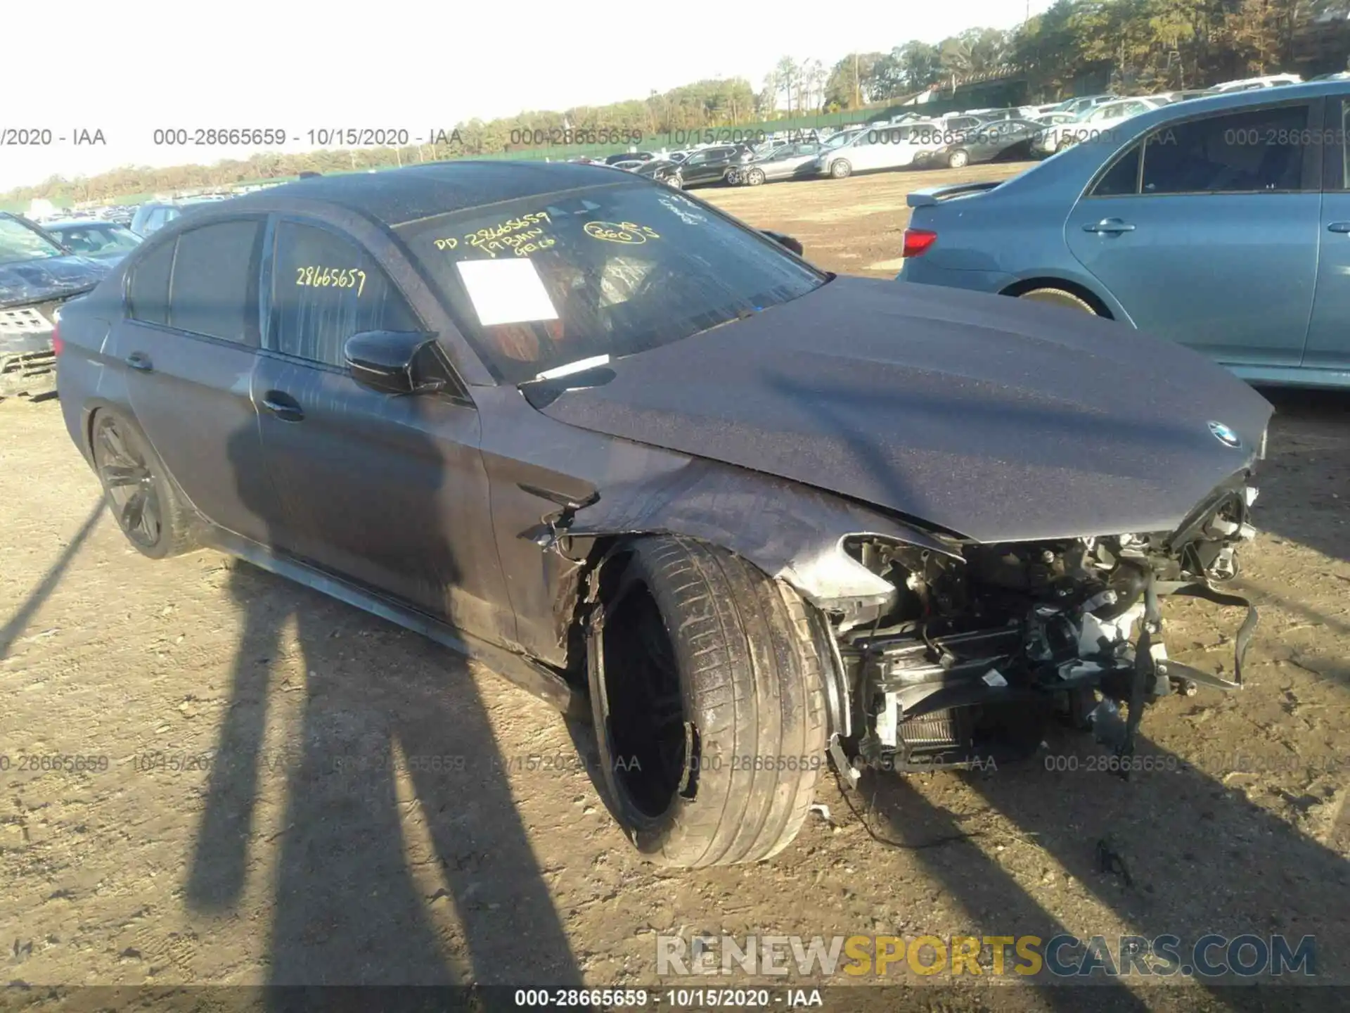
<instances>
[{"instance_id":1,"label":"long line of autumn trees along the horizon below the sky","mask_svg":"<svg viewBox=\"0 0 1350 1013\"><path fill-rule=\"evenodd\" d=\"M783 57L759 89L744 78L697 81L599 107L470 119L437 143L402 149L261 151L247 159L165 169L124 166L92 177L53 176L0 194L5 203L43 197L59 204L113 201L128 194L211 189L536 147L543 135L585 138L622 131L655 138L699 130L894 103L934 88L1017 76L1029 100L1054 100L1075 82L1106 80L1112 90L1145 93L1293 69L1308 32L1350 31L1350 0L1057 0L1008 31L969 28L938 43L909 41L887 51L850 53L832 68ZM1343 49L1343 47L1342 47ZM1341 58L1350 55L1342 53ZM1345 69L1336 66L1332 69Z\"/></svg>"}]
</instances>

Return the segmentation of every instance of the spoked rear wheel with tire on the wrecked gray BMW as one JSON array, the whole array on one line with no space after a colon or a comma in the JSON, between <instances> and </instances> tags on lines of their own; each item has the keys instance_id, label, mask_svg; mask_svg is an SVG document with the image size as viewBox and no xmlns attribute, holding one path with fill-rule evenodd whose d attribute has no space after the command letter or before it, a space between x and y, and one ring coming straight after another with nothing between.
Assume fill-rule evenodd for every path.
<instances>
[{"instance_id":1,"label":"spoked rear wheel with tire on the wrecked gray BMW","mask_svg":"<svg viewBox=\"0 0 1350 1013\"><path fill-rule=\"evenodd\" d=\"M140 427L122 412L104 408L94 415L89 432L94 471L127 540L151 559L196 548L196 517Z\"/></svg>"}]
</instances>

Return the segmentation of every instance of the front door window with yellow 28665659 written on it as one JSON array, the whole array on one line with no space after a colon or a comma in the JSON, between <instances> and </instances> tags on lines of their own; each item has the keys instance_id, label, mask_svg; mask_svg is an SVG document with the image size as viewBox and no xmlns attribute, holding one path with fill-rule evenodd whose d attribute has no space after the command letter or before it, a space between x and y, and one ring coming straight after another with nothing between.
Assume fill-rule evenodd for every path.
<instances>
[{"instance_id":1,"label":"front door window with yellow 28665659 written on it","mask_svg":"<svg viewBox=\"0 0 1350 1013\"><path fill-rule=\"evenodd\" d=\"M421 326L379 265L323 228L284 222L271 273L271 342L278 351L346 366L347 339L362 331Z\"/></svg>"}]
</instances>

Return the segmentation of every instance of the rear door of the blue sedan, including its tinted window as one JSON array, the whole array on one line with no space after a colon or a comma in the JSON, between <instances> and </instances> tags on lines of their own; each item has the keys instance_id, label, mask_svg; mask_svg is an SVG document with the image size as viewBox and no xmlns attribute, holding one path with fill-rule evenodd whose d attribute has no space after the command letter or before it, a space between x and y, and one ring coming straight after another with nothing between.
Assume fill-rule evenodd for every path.
<instances>
[{"instance_id":1,"label":"rear door of the blue sedan, including its tinted window","mask_svg":"<svg viewBox=\"0 0 1350 1013\"><path fill-rule=\"evenodd\" d=\"M1297 366L1318 273L1320 100L1172 122L1114 158L1065 223L1146 331L1228 365ZM1314 119L1316 116L1316 119Z\"/></svg>"}]
</instances>

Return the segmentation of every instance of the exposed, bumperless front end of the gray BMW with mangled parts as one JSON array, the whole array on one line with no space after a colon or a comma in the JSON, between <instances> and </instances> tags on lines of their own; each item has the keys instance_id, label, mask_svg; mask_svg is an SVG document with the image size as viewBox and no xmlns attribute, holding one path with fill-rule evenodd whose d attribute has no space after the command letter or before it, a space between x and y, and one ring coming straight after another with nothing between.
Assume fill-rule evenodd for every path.
<instances>
[{"instance_id":1,"label":"exposed, bumperless front end of the gray BMW with mangled parts","mask_svg":"<svg viewBox=\"0 0 1350 1013\"><path fill-rule=\"evenodd\" d=\"M892 593L882 605L824 602L849 697L836 740L846 773L1026 758L1057 717L1127 756L1149 702L1200 685L1239 689L1257 613L1218 585L1237 575L1235 550L1256 534L1254 498L1235 477L1173 532L963 543L959 555L849 539L845 550ZM1168 658L1169 594L1246 609L1231 679Z\"/></svg>"}]
</instances>

